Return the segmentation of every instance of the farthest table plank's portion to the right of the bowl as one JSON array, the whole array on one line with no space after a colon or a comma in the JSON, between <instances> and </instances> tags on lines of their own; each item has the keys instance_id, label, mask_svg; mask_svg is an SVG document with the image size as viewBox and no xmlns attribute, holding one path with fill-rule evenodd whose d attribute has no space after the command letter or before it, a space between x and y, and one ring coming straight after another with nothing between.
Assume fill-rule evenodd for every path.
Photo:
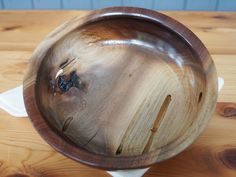
<instances>
[{"instance_id":1,"label":"farthest table plank's portion to the right of the bowl","mask_svg":"<svg viewBox=\"0 0 236 177\"><path fill-rule=\"evenodd\" d=\"M189 27L211 54L236 53L236 13L167 13Z\"/></svg>"}]
</instances>

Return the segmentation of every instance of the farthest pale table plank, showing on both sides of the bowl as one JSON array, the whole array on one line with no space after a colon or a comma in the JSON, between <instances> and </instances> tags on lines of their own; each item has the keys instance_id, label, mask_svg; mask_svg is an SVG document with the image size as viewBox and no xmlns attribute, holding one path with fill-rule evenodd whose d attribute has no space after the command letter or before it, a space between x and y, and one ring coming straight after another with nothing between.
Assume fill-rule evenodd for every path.
<instances>
[{"instance_id":1,"label":"farthest pale table plank, showing on both sides of the bowl","mask_svg":"<svg viewBox=\"0 0 236 177\"><path fill-rule=\"evenodd\" d=\"M0 50L32 51L62 22L85 11L2 11ZM236 54L236 13L166 12L189 27L214 54ZM23 20L24 19L24 20Z\"/></svg>"}]
</instances>

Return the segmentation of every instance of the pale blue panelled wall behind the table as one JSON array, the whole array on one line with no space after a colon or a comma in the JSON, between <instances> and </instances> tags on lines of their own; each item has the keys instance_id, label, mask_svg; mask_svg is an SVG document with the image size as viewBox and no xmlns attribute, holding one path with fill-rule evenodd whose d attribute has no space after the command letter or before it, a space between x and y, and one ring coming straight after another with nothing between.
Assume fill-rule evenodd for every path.
<instances>
[{"instance_id":1,"label":"pale blue panelled wall behind the table","mask_svg":"<svg viewBox=\"0 0 236 177\"><path fill-rule=\"evenodd\" d=\"M0 0L0 9L97 9L138 6L154 10L236 11L236 0Z\"/></svg>"}]
</instances>

